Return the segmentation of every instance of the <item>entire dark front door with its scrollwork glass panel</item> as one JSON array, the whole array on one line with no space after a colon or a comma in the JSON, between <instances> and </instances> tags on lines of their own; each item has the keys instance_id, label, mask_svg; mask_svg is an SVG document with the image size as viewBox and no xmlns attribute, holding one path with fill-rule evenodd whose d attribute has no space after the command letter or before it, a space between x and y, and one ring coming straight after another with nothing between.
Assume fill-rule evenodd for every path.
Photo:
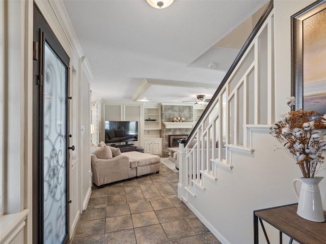
<instances>
[{"instance_id":1,"label":"entire dark front door with its scrollwork glass panel","mask_svg":"<svg viewBox=\"0 0 326 244\"><path fill-rule=\"evenodd\" d=\"M33 38L33 243L67 243L69 57L35 5Z\"/></svg>"}]
</instances>

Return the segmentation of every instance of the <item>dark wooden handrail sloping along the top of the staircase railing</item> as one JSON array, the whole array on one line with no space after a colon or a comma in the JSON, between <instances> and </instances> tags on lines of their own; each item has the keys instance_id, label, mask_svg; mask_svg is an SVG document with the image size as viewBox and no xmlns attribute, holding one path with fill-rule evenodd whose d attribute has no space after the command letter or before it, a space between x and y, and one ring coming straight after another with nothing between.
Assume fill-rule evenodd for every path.
<instances>
[{"instance_id":1,"label":"dark wooden handrail sloping along the top of the staircase railing","mask_svg":"<svg viewBox=\"0 0 326 244\"><path fill-rule=\"evenodd\" d=\"M234 59L234 62L232 63L230 69L228 70L228 72L226 73L226 75L224 76L221 84L219 85L218 89L216 89L216 92L214 93L214 95L212 96L211 100L209 101L209 103L207 104L206 108L204 109L202 115L200 116L200 118L198 119L194 129L192 130L192 132L189 134L187 140L184 143L184 146L186 146L188 144L188 141L190 141L193 137L193 135L195 134L196 130L198 129L199 125L202 123L204 116L208 113L209 109L211 108L213 102L216 100L216 98L218 97L218 95L220 94L223 86L225 85L225 83L227 82L227 80L229 79L229 77L231 76L231 74L233 73L235 67L238 65L238 63L240 62L240 59L242 58L243 54L246 52L246 50L248 49L248 47L250 46L251 42L254 40L255 36L257 35L257 33L259 32L259 29L261 28L262 24L265 22L265 20L267 19L268 15L270 14L271 10L273 10L274 8L274 0L270 0L268 6L266 7L264 13L261 15L259 21L257 22L257 24L255 25L255 28L253 29L253 31L251 32L249 38L247 39L247 41L244 43L244 45L242 46L241 50L239 51L238 55L236 56L236 58Z\"/></svg>"}]
</instances>

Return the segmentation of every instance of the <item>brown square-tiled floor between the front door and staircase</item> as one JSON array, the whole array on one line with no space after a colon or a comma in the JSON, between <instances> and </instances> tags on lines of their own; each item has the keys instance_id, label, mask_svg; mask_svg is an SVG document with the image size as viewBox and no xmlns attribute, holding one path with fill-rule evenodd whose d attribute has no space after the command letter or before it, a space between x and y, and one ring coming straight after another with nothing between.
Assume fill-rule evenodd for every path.
<instances>
[{"instance_id":1,"label":"brown square-tiled floor between the front door and staircase","mask_svg":"<svg viewBox=\"0 0 326 244\"><path fill-rule=\"evenodd\" d=\"M178 173L93 186L71 244L200 244L221 242L177 197Z\"/></svg>"}]
</instances>

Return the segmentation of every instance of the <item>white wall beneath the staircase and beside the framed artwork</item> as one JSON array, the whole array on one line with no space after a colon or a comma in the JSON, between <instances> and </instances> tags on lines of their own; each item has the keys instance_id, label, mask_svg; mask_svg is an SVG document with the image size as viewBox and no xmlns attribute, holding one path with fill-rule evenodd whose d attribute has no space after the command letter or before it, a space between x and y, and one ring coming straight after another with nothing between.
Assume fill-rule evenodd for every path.
<instances>
[{"instance_id":1,"label":"white wall beneath the staircase and beside the framed artwork","mask_svg":"<svg viewBox=\"0 0 326 244\"><path fill-rule=\"evenodd\" d=\"M291 90L290 16L312 2L274 1L276 118L290 110L285 103ZM252 136L252 155L233 152L232 171L219 168L216 182L205 179L205 191L196 188L196 198L187 195L186 204L222 243L253 243L253 210L297 202L292 180L302 176L300 168L284 150L275 151L282 145L268 128L254 131ZM326 178L326 170L318 175ZM326 179L319 187L326 210ZM268 225L267 232L270 242L278 243L279 232ZM265 243L262 231L259 243Z\"/></svg>"}]
</instances>

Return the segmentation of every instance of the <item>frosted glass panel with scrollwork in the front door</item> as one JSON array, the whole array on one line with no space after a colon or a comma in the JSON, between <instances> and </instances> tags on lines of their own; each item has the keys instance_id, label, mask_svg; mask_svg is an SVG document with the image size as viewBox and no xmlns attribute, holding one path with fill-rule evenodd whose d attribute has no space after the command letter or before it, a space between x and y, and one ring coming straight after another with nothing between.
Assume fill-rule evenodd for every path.
<instances>
[{"instance_id":1,"label":"frosted glass panel with scrollwork in the front door","mask_svg":"<svg viewBox=\"0 0 326 244\"><path fill-rule=\"evenodd\" d=\"M44 45L43 223L44 243L63 243L67 230L67 67Z\"/></svg>"}]
</instances>

